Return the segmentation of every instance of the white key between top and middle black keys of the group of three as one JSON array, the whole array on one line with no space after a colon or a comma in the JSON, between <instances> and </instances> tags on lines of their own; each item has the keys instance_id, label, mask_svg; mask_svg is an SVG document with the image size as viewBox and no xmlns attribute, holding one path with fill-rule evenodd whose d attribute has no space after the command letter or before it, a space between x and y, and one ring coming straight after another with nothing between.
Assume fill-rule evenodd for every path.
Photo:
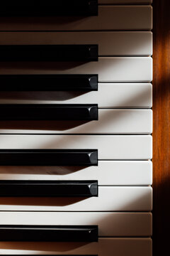
<instances>
[{"instance_id":1,"label":"white key between top and middle black keys of the group of three","mask_svg":"<svg viewBox=\"0 0 170 256\"><path fill-rule=\"evenodd\" d=\"M151 57L100 57L89 63L0 63L0 75L98 74L99 82L151 82Z\"/></svg>"}]
</instances>

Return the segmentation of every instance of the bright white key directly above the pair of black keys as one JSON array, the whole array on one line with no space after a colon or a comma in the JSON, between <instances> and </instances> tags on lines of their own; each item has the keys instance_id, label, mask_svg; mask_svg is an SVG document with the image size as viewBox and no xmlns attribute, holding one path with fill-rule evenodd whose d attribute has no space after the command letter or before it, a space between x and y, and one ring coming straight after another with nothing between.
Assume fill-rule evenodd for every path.
<instances>
[{"instance_id":1,"label":"bright white key directly above the pair of black keys","mask_svg":"<svg viewBox=\"0 0 170 256\"><path fill-rule=\"evenodd\" d=\"M1 134L0 149L98 149L99 160L152 159L150 135Z\"/></svg>"}]
</instances>

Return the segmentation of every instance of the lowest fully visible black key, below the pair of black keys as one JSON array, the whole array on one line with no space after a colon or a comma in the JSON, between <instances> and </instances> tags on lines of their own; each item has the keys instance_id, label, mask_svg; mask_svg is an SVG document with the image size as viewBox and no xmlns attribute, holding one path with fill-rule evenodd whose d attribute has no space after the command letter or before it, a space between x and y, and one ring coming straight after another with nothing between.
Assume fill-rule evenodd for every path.
<instances>
[{"instance_id":1,"label":"lowest fully visible black key, below the pair of black keys","mask_svg":"<svg viewBox=\"0 0 170 256\"><path fill-rule=\"evenodd\" d=\"M1 241L97 242L98 226L0 225Z\"/></svg>"}]
</instances>

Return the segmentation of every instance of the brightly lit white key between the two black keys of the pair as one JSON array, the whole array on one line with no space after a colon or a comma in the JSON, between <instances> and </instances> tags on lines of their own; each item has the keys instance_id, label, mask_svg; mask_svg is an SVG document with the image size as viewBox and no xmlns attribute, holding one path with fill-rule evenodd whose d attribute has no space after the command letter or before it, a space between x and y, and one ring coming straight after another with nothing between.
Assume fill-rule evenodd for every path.
<instances>
[{"instance_id":1,"label":"brightly lit white key between the two black keys of the pair","mask_svg":"<svg viewBox=\"0 0 170 256\"><path fill-rule=\"evenodd\" d=\"M98 161L98 166L0 166L1 180L97 180L99 186L152 185L152 161Z\"/></svg>"}]
</instances>

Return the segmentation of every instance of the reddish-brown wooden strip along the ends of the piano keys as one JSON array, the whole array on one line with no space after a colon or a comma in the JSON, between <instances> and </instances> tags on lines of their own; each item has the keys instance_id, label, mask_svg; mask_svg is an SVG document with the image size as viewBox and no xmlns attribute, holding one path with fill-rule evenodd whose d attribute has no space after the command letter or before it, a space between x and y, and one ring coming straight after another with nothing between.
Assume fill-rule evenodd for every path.
<instances>
[{"instance_id":1,"label":"reddish-brown wooden strip along the ends of the piano keys","mask_svg":"<svg viewBox=\"0 0 170 256\"><path fill-rule=\"evenodd\" d=\"M153 7L153 242L154 255L165 255L170 252L170 1L154 0Z\"/></svg>"}]
</instances>

